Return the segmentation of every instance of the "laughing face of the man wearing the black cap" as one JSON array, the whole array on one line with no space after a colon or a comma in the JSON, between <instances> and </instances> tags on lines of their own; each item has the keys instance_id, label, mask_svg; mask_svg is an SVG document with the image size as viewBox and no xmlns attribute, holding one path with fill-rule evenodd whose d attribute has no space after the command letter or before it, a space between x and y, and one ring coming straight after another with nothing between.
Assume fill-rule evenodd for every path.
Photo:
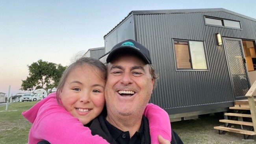
<instances>
[{"instance_id":1,"label":"laughing face of the man wearing the black cap","mask_svg":"<svg viewBox=\"0 0 256 144\"><path fill-rule=\"evenodd\" d=\"M108 114L141 115L152 94L149 65L134 55L121 55L108 64L105 99Z\"/></svg>"}]
</instances>

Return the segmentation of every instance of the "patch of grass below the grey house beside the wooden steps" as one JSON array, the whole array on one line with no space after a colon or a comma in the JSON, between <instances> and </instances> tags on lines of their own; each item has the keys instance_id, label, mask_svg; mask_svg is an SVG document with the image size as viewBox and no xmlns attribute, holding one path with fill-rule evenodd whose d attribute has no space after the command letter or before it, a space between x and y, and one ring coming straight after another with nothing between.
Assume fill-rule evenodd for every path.
<instances>
[{"instance_id":1,"label":"patch of grass below the grey house beside the wooden steps","mask_svg":"<svg viewBox=\"0 0 256 144\"><path fill-rule=\"evenodd\" d=\"M178 133L184 144L256 144L256 136L250 136L244 141L243 135L227 132L219 135L214 126L220 126L224 123L219 122L219 118L211 114L210 116L199 117L194 120L185 120L173 122L172 129Z\"/></svg>"}]
</instances>

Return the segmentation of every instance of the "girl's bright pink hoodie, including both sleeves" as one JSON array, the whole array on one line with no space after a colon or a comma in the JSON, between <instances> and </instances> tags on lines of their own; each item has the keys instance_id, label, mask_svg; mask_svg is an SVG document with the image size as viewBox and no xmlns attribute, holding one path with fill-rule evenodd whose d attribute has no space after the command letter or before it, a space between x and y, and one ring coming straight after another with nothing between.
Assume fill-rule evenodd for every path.
<instances>
[{"instance_id":1,"label":"girl's bright pink hoodie, including both sleeves","mask_svg":"<svg viewBox=\"0 0 256 144\"><path fill-rule=\"evenodd\" d=\"M22 115L32 123L28 135L28 144L47 140L52 144L108 144L98 135L91 135L91 130L60 106L56 93L48 95ZM159 144L157 136L171 141L171 123L169 115L157 105L149 103L144 111L148 118L152 144Z\"/></svg>"}]
</instances>

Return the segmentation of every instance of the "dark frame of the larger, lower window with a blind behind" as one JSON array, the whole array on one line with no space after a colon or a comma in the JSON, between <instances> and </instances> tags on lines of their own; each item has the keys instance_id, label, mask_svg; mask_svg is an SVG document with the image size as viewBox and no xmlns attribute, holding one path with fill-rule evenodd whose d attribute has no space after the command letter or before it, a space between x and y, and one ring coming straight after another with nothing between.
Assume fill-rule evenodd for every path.
<instances>
[{"instance_id":1,"label":"dark frame of the larger, lower window with a blind behind","mask_svg":"<svg viewBox=\"0 0 256 144\"><path fill-rule=\"evenodd\" d=\"M191 68L178 68L177 67L174 41L185 41L185 42L187 42ZM202 42L203 43L204 56L205 56L205 61L206 61L206 69L193 69L193 65L192 65L193 60L192 60L192 57L191 57L191 50L190 50L189 41L197 41L197 40L173 39L173 54L174 54L174 63L175 63L176 71L209 71L210 68L209 68L209 65L208 65L208 57L206 57L207 52L206 52L206 49L205 49L204 41L197 41L197 42Z\"/></svg>"}]
</instances>

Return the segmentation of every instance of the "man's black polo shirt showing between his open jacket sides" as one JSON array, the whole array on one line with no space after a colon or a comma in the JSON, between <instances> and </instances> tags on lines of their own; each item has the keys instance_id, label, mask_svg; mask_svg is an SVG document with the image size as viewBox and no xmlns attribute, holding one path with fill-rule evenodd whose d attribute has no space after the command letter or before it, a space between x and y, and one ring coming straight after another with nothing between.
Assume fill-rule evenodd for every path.
<instances>
[{"instance_id":1,"label":"man's black polo shirt showing between his open jacket sides","mask_svg":"<svg viewBox=\"0 0 256 144\"><path fill-rule=\"evenodd\" d=\"M145 117L143 116L145 119ZM109 130L109 133L111 136L115 139L115 141L119 144L140 144L141 138L144 133L144 120L141 121L141 126L139 128L139 131L136 131L135 134L130 138L129 131L121 131L120 129L114 127L111 125L106 118L104 118L104 122ZM147 125L148 126L148 125ZM147 135L147 133L145 133ZM150 138L150 135L148 133L148 137Z\"/></svg>"}]
</instances>

